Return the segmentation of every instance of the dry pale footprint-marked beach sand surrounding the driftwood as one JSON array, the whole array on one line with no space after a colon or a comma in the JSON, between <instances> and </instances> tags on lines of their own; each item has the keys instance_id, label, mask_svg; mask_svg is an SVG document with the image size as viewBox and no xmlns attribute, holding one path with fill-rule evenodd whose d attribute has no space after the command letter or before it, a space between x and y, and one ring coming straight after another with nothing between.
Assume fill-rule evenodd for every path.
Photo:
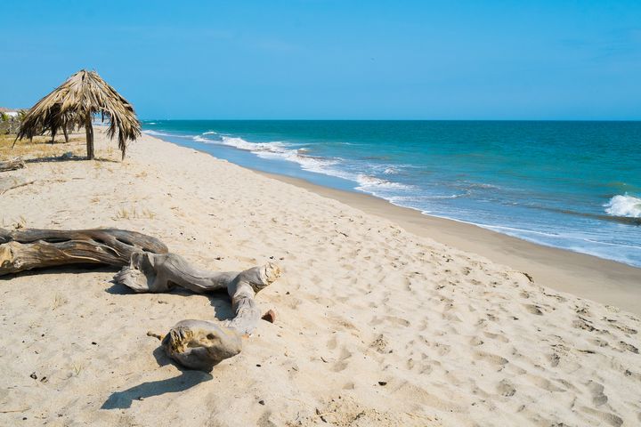
<instances>
[{"instance_id":1,"label":"dry pale footprint-marked beach sand surrounding the driftwood","mask_svg":"<svg viewBox=\"0 0 641 427\"><path fill-rule=\"evenodd\" d=\"M276 322L209 375L170 363L147 331L228 318L222 295L131 294L106 268L0 278L0 425L641 423L641 321L562 291L581 286L576 262L541 286L430 238L443 230L150 136L120 163L98 134L100 161L2 173L4 189L31 182L0 195L2 227L138 230L210 270L276 261L283 277L257 297Z\"/></svg>"}]
</instances>

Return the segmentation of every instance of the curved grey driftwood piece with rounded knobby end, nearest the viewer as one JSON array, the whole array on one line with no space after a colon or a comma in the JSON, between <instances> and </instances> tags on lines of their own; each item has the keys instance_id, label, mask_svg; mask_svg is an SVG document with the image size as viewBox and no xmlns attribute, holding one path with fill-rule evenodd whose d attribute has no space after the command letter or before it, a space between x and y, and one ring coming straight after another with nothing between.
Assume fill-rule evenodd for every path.
<instances>
[{"instance_id":1,"label":"curved grey driftwood piece with rounded knobby end, nearest the viewer","mask_svg":"<svg viewBox=\"0 0 641 427\"><path fill-rule=\"evenodd\" d=\"M133 254L131 264L114 277L134 292L168 292L181 286L197 294L226 289L236 314L225 322L182 320L162 339L169 357L184 367L211 371L242 349L241 337L252 334L261 318L254 297L280 276L276 264L244 271L213 272L192 267L178 254Z\"/></svg>"}]
</instances>

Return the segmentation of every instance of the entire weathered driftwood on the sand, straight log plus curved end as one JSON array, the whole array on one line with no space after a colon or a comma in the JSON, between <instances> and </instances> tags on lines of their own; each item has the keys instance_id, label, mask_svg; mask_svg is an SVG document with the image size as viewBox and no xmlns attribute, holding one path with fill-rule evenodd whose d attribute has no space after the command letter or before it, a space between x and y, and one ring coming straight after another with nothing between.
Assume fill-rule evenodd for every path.
<instances>
[{"instance_id":1,"label":"entire weathered driftwood on the sand, straight log plus curved end","mask_svg":"<svg viewBox=\"0 0 641 427\"><path fill-rule=\"evenodd\" d=\"M241 338L260 321L254 297L279 278L272 262L244 271L212 272L192 267L178 254L167 253L158 239L126 230L0 229L0 276L69 263L124 266L116 283L136 293L168 292L181 286L202 294L226 289L235 317L225 322L183 320L157 336L169 357L192 369L211 371L242 349Z\"/></svg>"}]
</instances>

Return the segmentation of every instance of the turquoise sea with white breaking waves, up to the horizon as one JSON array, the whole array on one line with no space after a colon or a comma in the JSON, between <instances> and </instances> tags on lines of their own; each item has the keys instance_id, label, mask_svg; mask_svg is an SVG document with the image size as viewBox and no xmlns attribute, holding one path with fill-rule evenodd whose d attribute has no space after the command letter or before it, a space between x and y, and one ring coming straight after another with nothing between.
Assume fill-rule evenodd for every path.
<instances>
[{"instance_id":1,"label":"turquoise sea with white breaking waves, up to the horizon","mask_svg":"<svg viewBox=\"0 0 641 427\"><path fill-rule=\"evenodd\" d=\"M147 120L268 173L641 267L641 122Z\"/></svg>"}]
</instances>

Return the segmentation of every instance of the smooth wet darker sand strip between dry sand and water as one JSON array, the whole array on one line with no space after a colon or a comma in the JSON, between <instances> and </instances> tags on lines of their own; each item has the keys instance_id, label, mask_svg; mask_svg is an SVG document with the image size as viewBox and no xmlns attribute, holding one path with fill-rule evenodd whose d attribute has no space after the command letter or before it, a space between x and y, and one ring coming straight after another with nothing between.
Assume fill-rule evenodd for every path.
<instances>
[{"instance_id":1,"label":"smooth wet darker sand strip between dry sand and water","mask_svg":"<svg viewBox=\"0 0 641 427\"><path fill-rule=\"evenodd\" d=\"M333 198L366 214L396 222L418 236L433 238L444 245L527 272L537 285L641 314L641 269L629 264L540 245L468 222L423 214L365 193L332 189L300 178L247 169Z\"/></svg>"}]
</instances>

